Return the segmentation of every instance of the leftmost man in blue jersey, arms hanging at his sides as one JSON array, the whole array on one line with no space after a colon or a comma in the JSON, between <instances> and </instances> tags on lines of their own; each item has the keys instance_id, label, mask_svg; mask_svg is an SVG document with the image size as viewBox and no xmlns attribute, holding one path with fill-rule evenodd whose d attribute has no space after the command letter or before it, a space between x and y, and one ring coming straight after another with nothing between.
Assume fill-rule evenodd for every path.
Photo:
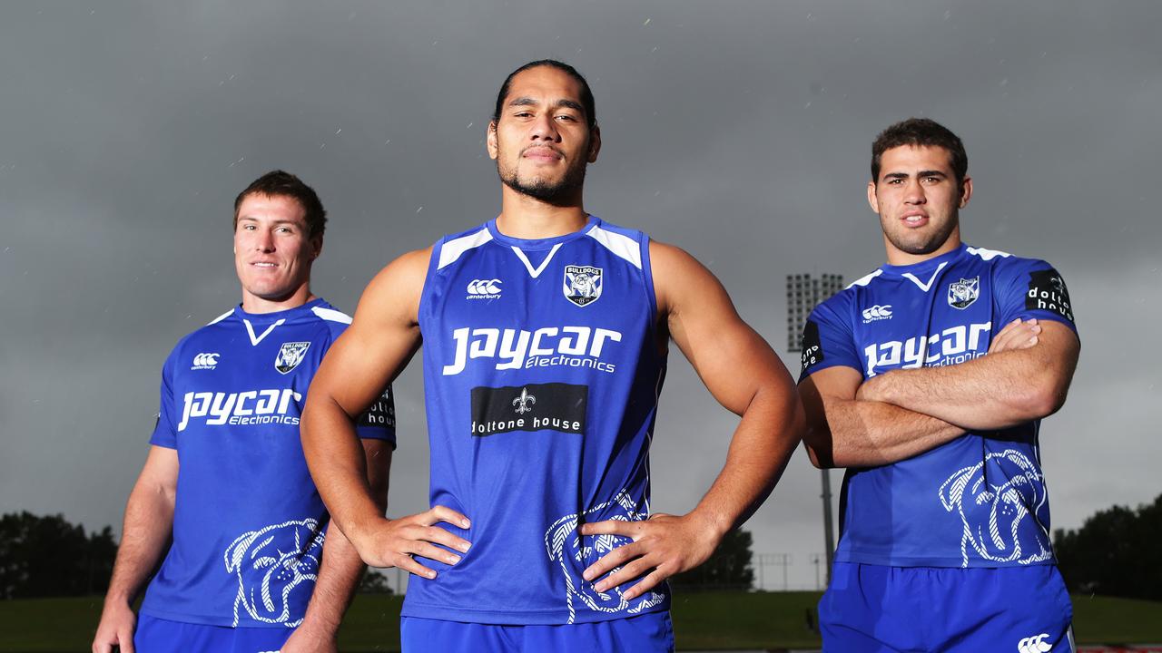
<instances>
[{"instance_id":1,"label":"leftmost man in blue jersey, arms hanging at his sides","mask_svg":"<svg viewBox=\"0 0 1162 653\"><path fill-rule=\"evenodd\" d=\"M363 562L328 528L299 438L307 387L351 322L310 292L325 221L315 192L281 171L235 201L242 303L182 338L163 367L94 653L336 650ZM385 386L357 428L380 510L395 438Z\"/></svg>"}]
</instances>

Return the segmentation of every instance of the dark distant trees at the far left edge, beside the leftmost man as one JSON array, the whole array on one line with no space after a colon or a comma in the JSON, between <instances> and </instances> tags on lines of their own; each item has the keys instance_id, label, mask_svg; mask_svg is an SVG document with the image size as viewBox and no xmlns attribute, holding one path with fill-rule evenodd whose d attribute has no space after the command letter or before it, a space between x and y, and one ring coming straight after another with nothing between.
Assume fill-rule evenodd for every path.
<instances>
[{"instance_id":1,"label":"dark distant trees at the far left edge, beside the leftmost man","mask_svg":"<svg viewBox=\"0 0 1162 653\"><path fill-rule=\"evenodd\" d=\"M109 587L117 543L113 529L85 533L64 515L0 517L0 598L85 596Z\"/></svg>"}]
</instances>

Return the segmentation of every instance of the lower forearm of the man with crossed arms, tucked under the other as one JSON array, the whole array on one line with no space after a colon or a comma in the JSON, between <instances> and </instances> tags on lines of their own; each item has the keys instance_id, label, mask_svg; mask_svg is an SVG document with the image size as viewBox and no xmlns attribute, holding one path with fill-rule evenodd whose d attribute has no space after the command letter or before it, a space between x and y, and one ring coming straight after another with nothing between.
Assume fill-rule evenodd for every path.
<instances>
[{"instance_id":1,"label":"lower forearm of the man with crossed arms, tucked under the other","mask_svg":"<svg viewBox=\"0 0 1162 653\"><path fill-rule=\"evenodd\" d=\"M803 438L818 467L888 465L964 433L948 422L878 401L829 399L824 418Z\"/></svg>"}]
</instances>

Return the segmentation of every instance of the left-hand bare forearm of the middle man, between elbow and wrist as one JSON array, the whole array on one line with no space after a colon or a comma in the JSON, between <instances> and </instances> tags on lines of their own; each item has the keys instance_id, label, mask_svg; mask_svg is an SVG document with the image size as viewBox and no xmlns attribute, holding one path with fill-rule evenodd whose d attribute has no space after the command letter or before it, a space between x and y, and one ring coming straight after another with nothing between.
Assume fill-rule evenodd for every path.
<instances>
[{"instance_id":1,"label":"left-hand bare forearm of the middle man, between elbow and wrist","mask_svg":"<svg viewBox=\"0 0 1162 653\"><path fill-rule=\"evenodd\" d=\"M367 482L367 464L351 417L330 397L307 396L302 449L311 479L347 539L382 518L383 510Z\"/></svg>"}]
</instances>

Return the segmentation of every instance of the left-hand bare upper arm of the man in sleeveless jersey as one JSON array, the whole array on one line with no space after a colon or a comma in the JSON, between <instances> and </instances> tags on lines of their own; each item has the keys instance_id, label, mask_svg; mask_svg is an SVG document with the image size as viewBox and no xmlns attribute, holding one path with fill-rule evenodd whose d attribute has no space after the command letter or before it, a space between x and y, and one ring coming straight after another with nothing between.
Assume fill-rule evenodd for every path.
<instances>
[{"instance_id":1,"label":"left-hand bare upper arm of the man in sleeveless jersey","mask_svg":"<svg viewBox=\"0 0 1162 653\"><path fill-rule=\"evenodd\" d=\"M331 345L308 401L332 401L354 417L379 399L419 349L416 321L428 251L404 254L367 285L354 320Z\"/></svg>"}]
</instances>

